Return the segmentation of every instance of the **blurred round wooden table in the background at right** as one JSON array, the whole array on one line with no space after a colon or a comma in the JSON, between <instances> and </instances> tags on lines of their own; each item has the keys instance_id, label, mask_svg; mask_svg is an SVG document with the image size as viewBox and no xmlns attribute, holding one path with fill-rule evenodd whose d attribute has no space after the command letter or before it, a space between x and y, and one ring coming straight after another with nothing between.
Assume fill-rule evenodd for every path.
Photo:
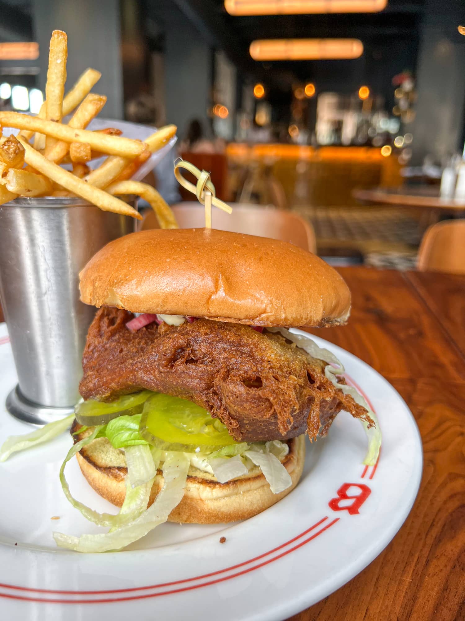
<instances>
[{"instance_id":1,"label":"blurred round wooden table in the background at right","mask_svg":"<svg viewBox=\"0 0 465 621\"><path fill-rule=\"evenodd\" d=\"M452 213L465 212L465 201L444 199L439 190L430 186L401 186L401 188L355 189L352 193L358 201L374 205L435 209Z\"/></svg>"}]
</instances>

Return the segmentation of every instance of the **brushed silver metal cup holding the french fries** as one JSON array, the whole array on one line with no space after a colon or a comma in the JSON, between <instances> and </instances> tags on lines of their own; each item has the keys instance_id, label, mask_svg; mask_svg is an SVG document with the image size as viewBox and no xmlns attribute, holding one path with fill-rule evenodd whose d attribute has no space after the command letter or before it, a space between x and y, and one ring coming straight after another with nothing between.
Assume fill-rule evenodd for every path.
<instances>
[{"instance_id":1,"label":"brushed silver metal cup holding the french fries","mask_svg":"<svg viewBox=\"0 0 465 621\"><path fill-rule=\"evenodd\" d=\"M75 197L0 206L0 299L19 379L6 406L15 417L37 425L74 411L95 314L79 301L79 271L134 222Z\"/></svg>"}]
</instances>

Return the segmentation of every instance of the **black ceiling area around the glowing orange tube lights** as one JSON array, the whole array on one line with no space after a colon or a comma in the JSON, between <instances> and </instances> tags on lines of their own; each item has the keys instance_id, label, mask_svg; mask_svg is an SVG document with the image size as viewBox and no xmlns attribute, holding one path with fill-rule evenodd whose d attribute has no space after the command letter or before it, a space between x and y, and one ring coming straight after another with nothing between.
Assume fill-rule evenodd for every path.
<instances>
[{"instance_id":1,"label":"black ceiling area around the glowing orange tube lights","mask_svg":"<svg viewBox=\"0 0 465 621\"><path fill-rule=\"evenodd\" d=\"M223 0L172 0L211 45L223 48L244 76L288 90L291 83L312 80L320 89L352 92L370 83L373 92L387 95L392 76L415 72L418 33L424 0L388 0L384 11L365 14L232 17ZM361 58L348 61L285 61L259 63L249 54L254 39L361 39ZM358 86L357 86L358 84Z\"/></svg>"}]
</instances>

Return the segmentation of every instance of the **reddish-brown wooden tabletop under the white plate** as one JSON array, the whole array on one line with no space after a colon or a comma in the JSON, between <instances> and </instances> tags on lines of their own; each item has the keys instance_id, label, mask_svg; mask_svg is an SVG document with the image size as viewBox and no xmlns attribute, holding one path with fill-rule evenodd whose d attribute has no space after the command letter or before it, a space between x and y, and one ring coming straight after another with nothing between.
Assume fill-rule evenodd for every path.
<instances>
[{"instance_id":1,"label":"reddish-brown wooden tabletop under the white plate","mask_svg":"<svg viewBox=\"0 0 465 621\"><path fill-rule=\"evenodd\" d=\"M352 351L401 393L422 435L423 478L386 550L292 621L465 619L465 276L339 271L352 290L352 317L345 327L312 332Z\"/></svg>"}]
</instances>

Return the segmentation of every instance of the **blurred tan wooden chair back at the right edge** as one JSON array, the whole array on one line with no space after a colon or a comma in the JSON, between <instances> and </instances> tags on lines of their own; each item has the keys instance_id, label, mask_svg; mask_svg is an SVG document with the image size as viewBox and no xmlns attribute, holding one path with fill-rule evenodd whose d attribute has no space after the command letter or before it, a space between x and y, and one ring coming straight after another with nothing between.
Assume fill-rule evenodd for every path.
<instances>
[{"instance_id":1,"label":"blurred tan wooden chair back at the right edge","mask_svg":"<svg viewBox=\"0 0 465 621\"><path fill-rule=\"evenodd\" d=\"M465 219L438 222L425 232L418 250L417 268L465 274Z\"/></svg>"}]
</instances>

